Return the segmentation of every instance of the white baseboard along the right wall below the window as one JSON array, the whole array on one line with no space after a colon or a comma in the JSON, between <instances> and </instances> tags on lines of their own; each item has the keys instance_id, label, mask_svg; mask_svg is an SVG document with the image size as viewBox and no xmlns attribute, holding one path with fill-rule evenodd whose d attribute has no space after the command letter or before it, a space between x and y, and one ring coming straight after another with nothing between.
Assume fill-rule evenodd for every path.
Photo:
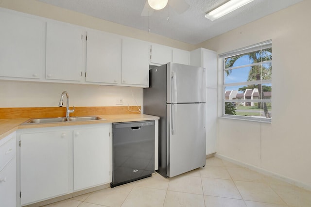
<instances>
[{"instance_id":1,"label":"white baseboard along the right wall below the window","mask_svg":"<svg viewBox=\"0 0 311 207\"><path fill-rule=\"evenodd\" d=\"M289 184L295 185L297 187L300 187L300 188L303 188L303 189L311 191L311 186L310 185L306 185L305 183L302 183L300 181L297 181L297 180L294 180L292 178L286 177L284 175L279 175L277 173L265 170L263 168L255 166L255 165L247 164L247 163L242 162L240 160L232 159L232 158L226 157L224 155L220 155L218 153L214 154L214 156L217 157L217 158L224 159L226 161L232 162L234 164L240 165L242 167L246 167L246 168L248 168L250 170L253 170L253 171L256 171L258 173L261 173L261 174L264 174L264 175L268 175L268 176L272 176L272 177L274 177L276 179L279 179L281 181L284 181L284 182L287 182Z\"/></svg>"}]
</instances>

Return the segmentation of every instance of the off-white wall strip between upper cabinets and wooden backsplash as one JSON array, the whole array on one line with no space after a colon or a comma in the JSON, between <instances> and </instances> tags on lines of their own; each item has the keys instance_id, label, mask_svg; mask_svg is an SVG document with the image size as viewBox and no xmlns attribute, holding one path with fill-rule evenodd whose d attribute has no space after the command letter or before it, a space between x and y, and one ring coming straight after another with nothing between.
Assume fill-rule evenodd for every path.
<instances>
[{"instance_id":1,"label":"off-white wall strip between upper cabinets and wooden backsplash","mask_svg":"<svg viewBox=\"0 0 311 207\"><path fill-rule=\"evenodd\" d=\"M63 91L70 106L136 106L135 99L142 105L142 89L136 87L0 80L0 108L57 107ZM116 105L119 98L123 105Z\"/></svg>"}]
</instances>

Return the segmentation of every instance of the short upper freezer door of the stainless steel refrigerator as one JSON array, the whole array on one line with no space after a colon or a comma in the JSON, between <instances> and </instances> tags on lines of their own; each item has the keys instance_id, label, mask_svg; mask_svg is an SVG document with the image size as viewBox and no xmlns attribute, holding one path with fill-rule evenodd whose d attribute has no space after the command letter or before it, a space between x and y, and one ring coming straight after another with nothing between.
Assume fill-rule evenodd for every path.
<instances>
[{"instance_id":1,"label":"short upper freezer door of the stainless steel refrigerator","mask_svg":"<svg viewBox=\"0 0 311 207\"><path fill-rule=\"evenodd\" d=\"M205 91L205 68L167 64L167 103L205 103Z\"/></svg>"}]
</instances>

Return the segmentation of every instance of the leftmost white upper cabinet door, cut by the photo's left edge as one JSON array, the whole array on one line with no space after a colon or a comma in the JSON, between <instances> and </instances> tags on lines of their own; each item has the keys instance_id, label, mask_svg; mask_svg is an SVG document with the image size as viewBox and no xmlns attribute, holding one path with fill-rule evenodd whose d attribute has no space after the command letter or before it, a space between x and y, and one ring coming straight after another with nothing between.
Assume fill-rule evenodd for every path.
<instances>
[{"instance_id":1,"label":"leftmost white upper cabinet door, cut by the photo's left edge","mask_svg":"<svg viewBox=\"0 0 311 207\"><path fill-rule=\"evenodd\" d=\"M0 76L41 78L45 23L0 11L0 25Z\"/></svg>"}]
</instances>

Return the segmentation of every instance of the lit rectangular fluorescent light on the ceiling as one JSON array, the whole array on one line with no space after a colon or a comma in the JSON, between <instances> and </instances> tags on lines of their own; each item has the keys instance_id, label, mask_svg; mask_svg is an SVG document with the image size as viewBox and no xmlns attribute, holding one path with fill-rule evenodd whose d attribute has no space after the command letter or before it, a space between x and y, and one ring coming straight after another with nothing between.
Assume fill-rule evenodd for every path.
<instances>
[{"instance_id":1,"label":"lit rectangular fluorescent light on the ceiling","mask_svg":"<svg viewBox=\"0 0 311 207\"><path fill-rule=\"evenodd\" d=\"M229 0L220 7L212 10L211 12L208 12L205 17L210 19L211 21L214 21L215 19L229 14L230 12L244 6L245 4L248 4L251 1L253 0Z\"/></svg>"}]
</instances>

